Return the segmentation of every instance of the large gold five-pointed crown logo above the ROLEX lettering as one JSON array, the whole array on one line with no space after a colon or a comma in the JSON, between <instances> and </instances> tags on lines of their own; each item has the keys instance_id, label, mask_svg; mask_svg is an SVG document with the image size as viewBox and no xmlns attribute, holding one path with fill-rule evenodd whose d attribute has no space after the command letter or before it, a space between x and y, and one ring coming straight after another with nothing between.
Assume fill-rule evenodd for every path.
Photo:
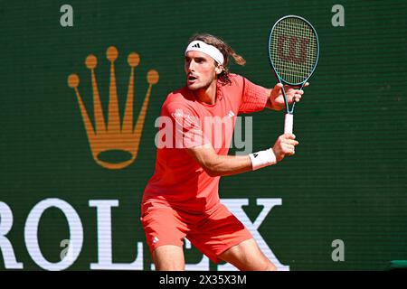
<instances>
[{"instance_id":1,"label":"large gold five-pointed crown logo above the ROLEX lettering","mask_svg":"<svg viewBox=\"0 0 407 289\"><path fill-rule=\"evenodd\" d=\"M137 124L133 120L133 103L134 103L134 72L140 58L137 53L128 54L128 64L130 66L130 79L128 82L128 98L126 102L123 122L120 124L120 115L118 111L118 91L116 88L116 74L114 62L118 59L118 50L110 46L107 50L107 58L110 61L110 85L109 85L109 122L106 126L103 109L100 103L98 82L96 80L95 68L98 64L96 56L90 54L85 61L86 67L90 69L91 83L93 90L93 110L95 127L90 122L90 117L80 97L78 89L80 79L78 75L71 74L68 77L68 86L75 90L76 97L80 106L83 123L88 135L90 150L93 159L102 167L108 169L122 169L133 163L137 158L138 147L140 144L143 126L146 119L148 101L151 89L158 82L159 75L156 70L149 70L147 73L147 82L149 84L143 106L137 118ZM121 125L121 126L120 126ZM111 163L100 159L101 153L106 152L127 152L131 158L120 163Z\"/></svg>"}]
</instances>

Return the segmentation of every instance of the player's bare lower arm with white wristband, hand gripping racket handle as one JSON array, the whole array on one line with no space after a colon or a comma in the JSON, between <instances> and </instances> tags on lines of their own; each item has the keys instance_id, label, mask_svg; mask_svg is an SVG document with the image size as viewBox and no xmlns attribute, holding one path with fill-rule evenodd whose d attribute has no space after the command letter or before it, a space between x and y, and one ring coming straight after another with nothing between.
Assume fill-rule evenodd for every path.
<instances>
[{"instance_id":1,"label":"player's bare lower arm with white wristband, hand gripping racket handle","mask_svg":"<svg viewBox=\"0 0 407 289\"><path fill-rule=\"evenodd\" d=\"M269 157L267 154L274 154L275 162L266 164L271 165L281 161L286 155L295 154L295 146L297 144L298 141L295 140L295 135L280 135L271 150L262 151L262 154L258 154L257 157L267 158ZM186 150L188 154L192 155L195 161L201 165L204 171L213 177L249 172L255 168L252 163L253 156L250 156L249 154L216 154L212 144L198 145L186 148Z\"/></svg>"}]
</instances>

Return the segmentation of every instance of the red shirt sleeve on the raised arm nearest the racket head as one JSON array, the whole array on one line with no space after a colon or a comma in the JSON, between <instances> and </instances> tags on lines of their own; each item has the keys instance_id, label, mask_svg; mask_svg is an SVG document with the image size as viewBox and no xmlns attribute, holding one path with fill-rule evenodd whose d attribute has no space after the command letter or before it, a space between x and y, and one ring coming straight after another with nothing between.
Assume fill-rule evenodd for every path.
<instances>
[{"instance_id":1,"label":"red shirt sleeve on the raised arm nearest the racket head","mask_svg":"<svg viewBox=\"0 0 407 289\"><path fill-rule=\"evenodd\" d=\"M266 107L269 95L267 89L252 83L249 79L242 78L243 95L239 114L261 111Z\"/></svg>"}]
</instances>

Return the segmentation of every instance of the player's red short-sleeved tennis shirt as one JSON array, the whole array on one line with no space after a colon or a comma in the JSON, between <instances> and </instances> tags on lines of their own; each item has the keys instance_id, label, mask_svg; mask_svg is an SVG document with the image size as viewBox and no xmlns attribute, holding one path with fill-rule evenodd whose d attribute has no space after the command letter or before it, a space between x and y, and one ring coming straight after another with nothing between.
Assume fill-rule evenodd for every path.
<instances>
[{"instance_id":1,"label":"player's red short-sleeved tennis shirt","mask_svg":"<svg viewBox=\"0 0 407 289\"><path fill-rule=\"evenodd\" d=\"M267 89L240 75L231 85L217 84L213 105L200 102L188 88L170 93L161 109L156 135L156 169L143 194L142 212L151 206L204 213L219 204L219 179L208 175L186 148L212 144L228 154L236 116L264 109Z\"/></svg>"}]
</instances>

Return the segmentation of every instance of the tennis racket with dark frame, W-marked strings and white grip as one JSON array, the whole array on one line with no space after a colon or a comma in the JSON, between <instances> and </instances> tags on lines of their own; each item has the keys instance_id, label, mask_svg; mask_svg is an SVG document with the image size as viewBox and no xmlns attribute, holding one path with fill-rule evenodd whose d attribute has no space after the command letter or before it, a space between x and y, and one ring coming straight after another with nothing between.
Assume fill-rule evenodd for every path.
<instances>
[{"instance_id":1,"label":"tennis racket with dark frame, W-marked strings and white grip","mask_svg":"<svg viewBox=\"0 0 407 289\"><path fill-rule=\"evenodd\" d=\"M314 27L302 17L288 15L280 18L271 28L269 36L270 65L283 85L286 104L284 134L292 134L294 107L289 108L284 85L302 89L317 67L319 42Z\"/></svg>"}]
</instances>

